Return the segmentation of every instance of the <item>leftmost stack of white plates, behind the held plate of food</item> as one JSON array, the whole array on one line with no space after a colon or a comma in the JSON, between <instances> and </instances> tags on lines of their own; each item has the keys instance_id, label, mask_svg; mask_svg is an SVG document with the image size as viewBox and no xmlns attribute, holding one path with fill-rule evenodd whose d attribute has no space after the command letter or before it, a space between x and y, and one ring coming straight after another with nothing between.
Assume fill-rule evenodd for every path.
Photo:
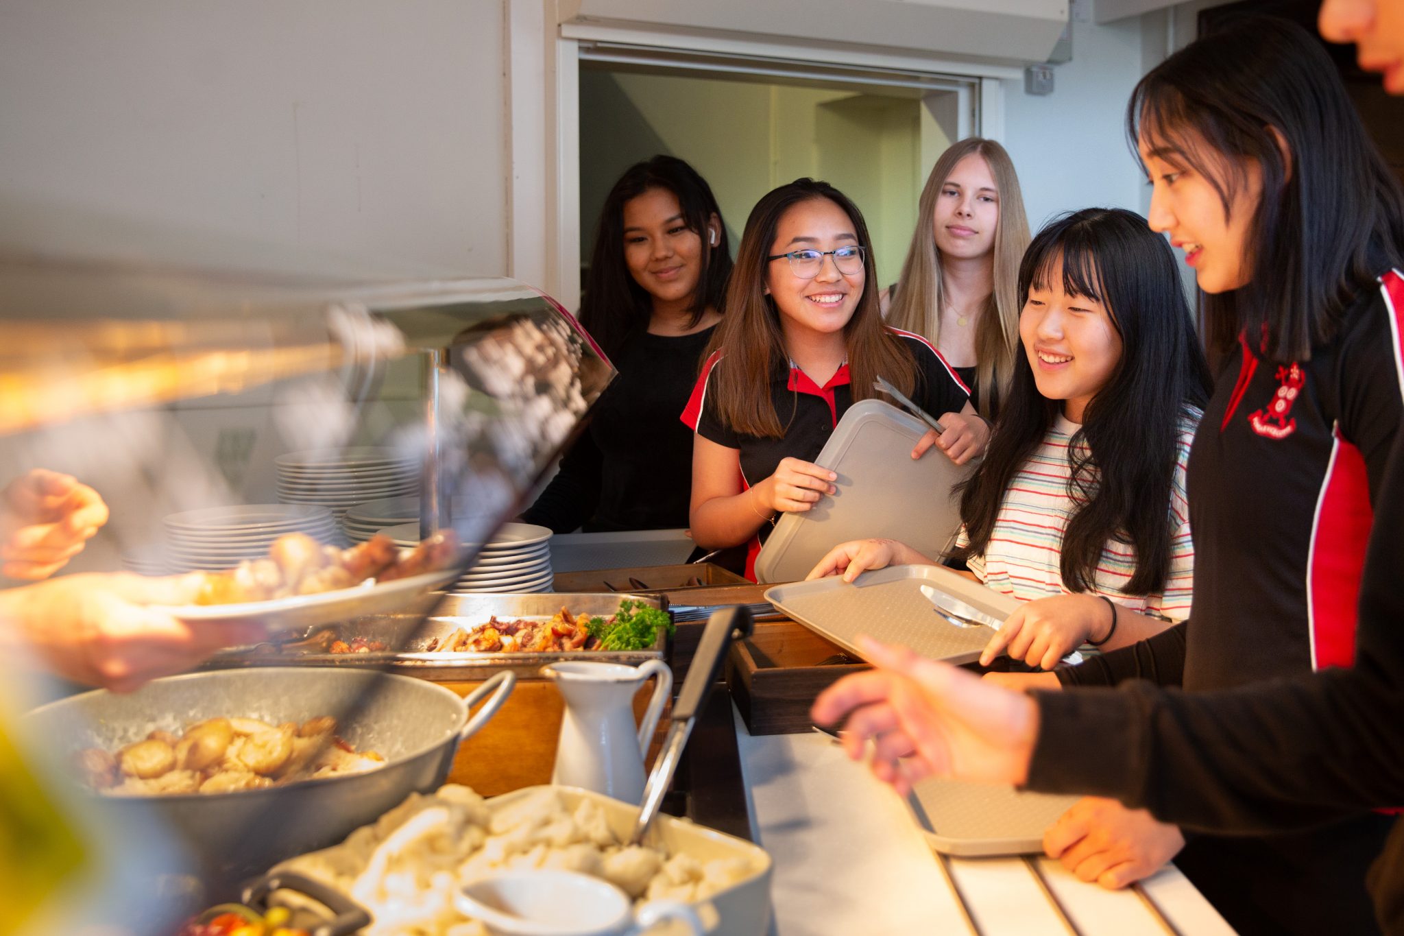
<instances>
[{"instance_id":1,"label":"leftmost stack of white plates, behind the held plate of food","mask_svg":"<svg viewBox=\"0 0 1404 936\"><path fill-rule=\"evenodd\" d=\"M166 560L177 573L229 568L244 559L264 559L285 533L306 533L337 544L340 533L331 511L298 504L209 507L166 518Z\"/></svg>"}]
</instances>

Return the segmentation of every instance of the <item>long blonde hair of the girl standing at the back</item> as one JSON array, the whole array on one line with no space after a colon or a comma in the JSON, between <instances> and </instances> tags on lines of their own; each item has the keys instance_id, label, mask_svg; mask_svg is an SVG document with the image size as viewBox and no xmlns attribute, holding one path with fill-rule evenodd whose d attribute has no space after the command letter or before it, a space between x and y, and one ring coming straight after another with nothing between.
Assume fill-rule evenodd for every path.
<instances>
[{"instance_id":1,"label":"long blonde hair of the girl standing at the back","mask_svg":"<svg viewBox=\"0 0 1404 936\"><path fill-rule=\"evenodd\" d=\"M1008 396L1014 379L1014 347L1019 342L1019 261L1029 246L1029 219L1024 213L1024 195L1014 160L994 140L970 136L952 143L927 177L917 206L917 230L901 265L897 295L887 312L889 324L925 335L936 347L941 331L941 305L945 288L941 276L941 251L936 248L935 213L941 189L956 163L972 153L990 167L1000 189L1000 216L994 229L994 290L976 326L976 382L980 387L980 415L993 420L1000 401Z\"/></svg>"}]
</instances>

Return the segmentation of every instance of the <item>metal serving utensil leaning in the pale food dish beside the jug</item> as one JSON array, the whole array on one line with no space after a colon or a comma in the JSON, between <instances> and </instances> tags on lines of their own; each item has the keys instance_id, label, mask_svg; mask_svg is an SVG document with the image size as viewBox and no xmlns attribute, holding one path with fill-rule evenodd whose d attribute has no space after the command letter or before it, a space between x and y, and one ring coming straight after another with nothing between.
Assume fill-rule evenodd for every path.
<instances>
[{"instance_id":1,"label":"metal serving utensil leaning in the pale food dish beside the jug","mask_svg":"<svg viewBox=\"0 0 1404 936\"><path fill-rule=\"evenodd\" d=\"M658 751L658 759L643 787L643 805L639 807L639 818L629 835L629 845L643 842L644 834L658 814L663 794L673 786L673 775L678 770L678 761L682 758L688 735L692 734L692 726L706 707L712 686L722 675L722 665L731 641L748 637L754 627L755 622L746 605L723 608L708 619L696 654L688 667L688 678L682 681L682 692L673 703L673 716L668 723L668 734L663 740L663 749Z\"/></svg>"}]
</instances>

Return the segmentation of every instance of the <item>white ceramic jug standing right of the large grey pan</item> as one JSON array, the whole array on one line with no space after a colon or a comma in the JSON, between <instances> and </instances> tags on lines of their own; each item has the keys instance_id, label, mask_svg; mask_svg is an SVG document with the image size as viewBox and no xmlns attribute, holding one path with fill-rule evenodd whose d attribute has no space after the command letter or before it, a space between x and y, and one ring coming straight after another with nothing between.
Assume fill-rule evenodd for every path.
<instances>
[{"instance_id":1,"label":"white ceramic jug standing right of the large grey pan","mask_svg":"<svg viewBox=\"0 0 1404 936\"><path fill-rule=\"evenodd\" d=\"M578 786L625 803L643 800L643 755L673 692L673 671L661 660L642 667L567 661L542 667L566 697L552 783ZM633 730L633 696L650 676L658 683Z\"/></svg>"}]
</instances>

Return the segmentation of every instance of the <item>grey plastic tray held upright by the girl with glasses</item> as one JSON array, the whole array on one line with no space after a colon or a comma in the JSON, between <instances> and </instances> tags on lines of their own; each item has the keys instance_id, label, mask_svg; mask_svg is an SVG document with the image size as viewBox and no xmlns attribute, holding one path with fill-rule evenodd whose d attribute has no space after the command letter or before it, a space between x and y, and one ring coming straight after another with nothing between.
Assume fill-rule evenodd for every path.
<instances>
[{"instance_id":1,"label":"grey plastic tray held upright by the girl with glasses","mask_svg":"<svg viewBox=\"0 0 1404 936\"><path fill-rule=\"evenodd\" d=\"M838 493L775 523L755 557L755 577L800 581L838 543L869 536L939 559L960 529L960 504L951 488L973 466L953 464L939 449L913 460L911 449L925 432L925 422L882 400L851 406L814 459L838 474Z\"/></svg>"}]
</instances>

